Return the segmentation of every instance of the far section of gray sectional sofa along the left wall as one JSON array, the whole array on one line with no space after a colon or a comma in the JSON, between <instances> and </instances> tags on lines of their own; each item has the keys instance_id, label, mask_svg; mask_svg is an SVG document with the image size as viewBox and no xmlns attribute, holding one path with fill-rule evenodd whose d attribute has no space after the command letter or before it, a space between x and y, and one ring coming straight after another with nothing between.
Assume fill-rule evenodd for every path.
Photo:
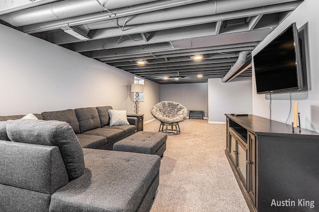
<instances>
[{"instance_id":1,"label":"far section of gray sectional sofa along the left wall","mask_svg":"<svg viewBox=\"0 0 319 212\"><path fill-rule=\"evenodd\" d=\"M38 119L65 121L70 124L83 148L112 150L113 144L136 132L138 119L127 117L130 125L109 126L112 106L82 107L34 114ZM24 115L0 116L0 121Z\"/></svg>"}]
</instances>

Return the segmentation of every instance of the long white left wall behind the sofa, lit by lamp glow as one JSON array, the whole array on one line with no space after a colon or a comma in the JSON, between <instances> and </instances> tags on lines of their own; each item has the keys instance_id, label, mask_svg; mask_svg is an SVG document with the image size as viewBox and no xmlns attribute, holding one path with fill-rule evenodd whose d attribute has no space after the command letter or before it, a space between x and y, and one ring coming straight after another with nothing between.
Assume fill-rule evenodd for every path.
<instances>
[{"instance_id":1,"label":"long white left wall behind the sofa, lit by lamp glow","mask_svg":"<svg viewBox=\"0 0 319 212\"><path fill-rule=\"evenodd\" d=\"M113 106L134 111L134 75L0 24L0 115ZM140 113L152 119L160 85L145 80Z\"/></svg>"}]
</instances>

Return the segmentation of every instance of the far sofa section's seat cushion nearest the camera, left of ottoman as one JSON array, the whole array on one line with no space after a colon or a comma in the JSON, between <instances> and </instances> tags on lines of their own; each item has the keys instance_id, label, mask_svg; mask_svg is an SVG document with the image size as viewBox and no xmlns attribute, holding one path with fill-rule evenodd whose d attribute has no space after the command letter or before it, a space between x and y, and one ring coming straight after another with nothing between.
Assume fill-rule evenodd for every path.
<instances>
[{"instance_id":1,"label":"far sofa section's seat cushion nearest the camera, left of ottoman","mask_svg":"<svg viewBox=\"0 0 319 212\"><path fill-rule=\"evenodd\" d=\"M92 148L98 149L99 147L107 144L106 137L98 135L86 135L86 134L76 134L82 148Z\"/></svg>"}]
</instances>

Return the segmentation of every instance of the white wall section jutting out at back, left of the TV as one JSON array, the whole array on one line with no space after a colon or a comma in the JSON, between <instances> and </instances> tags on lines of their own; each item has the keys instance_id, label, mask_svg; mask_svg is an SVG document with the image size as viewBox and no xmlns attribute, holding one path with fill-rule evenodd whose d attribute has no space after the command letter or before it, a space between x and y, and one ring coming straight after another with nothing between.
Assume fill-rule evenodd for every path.
<instances>
[{"instance_id":1,"label":"white wall section jutting out at back, left of the TV","mask_svg":"<svg viewBox=\"0 0 319 212\"><path fill-rule=\"evenodd\" d=\"M208 79L208 121L225 122L225 113L252 113L252 80L235 78L222 83L221 78Z\"/></svg>"}]
</instances>

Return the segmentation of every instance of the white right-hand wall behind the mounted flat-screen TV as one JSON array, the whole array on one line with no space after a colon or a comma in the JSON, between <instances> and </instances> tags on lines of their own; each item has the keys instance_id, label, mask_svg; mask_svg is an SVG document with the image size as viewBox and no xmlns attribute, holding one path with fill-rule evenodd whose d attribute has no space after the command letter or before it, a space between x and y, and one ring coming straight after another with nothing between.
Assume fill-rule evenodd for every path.
<instances>
[{"instance_id":1,"label":"white right-hand wall behind the mounted flat-screen TV","mask_svg":"<svg viewBox=\"0 0 319 212\"><path fill-rule=\"evenodd\" d=\"M299 112L301 116L302 128L319 131L319 1L305 0L300 6L292 12L260 45L253 50L252 54L258 53L272 39L279 35L290 24L296 22L299 30L306 28L308 32L308 52L306 57L307 75L308 75L308 94L306 98L299 99L293 94L293 101L299 103ZM254 73L254 69L253 69ZM288 94L287 94L288 95ZM294 100L295 99L295 100ZM297 99L297 100L296 100ZM272 101L272 119L286 123L290 110L289 98L277 98ZM292 109L293 110L293 109ZM256 84L253 76L253 114L269 118L269 100L265 99L265 95L256 94ZM292 122L292 116L287 123Z\"/></svg>"}]
</instances>

